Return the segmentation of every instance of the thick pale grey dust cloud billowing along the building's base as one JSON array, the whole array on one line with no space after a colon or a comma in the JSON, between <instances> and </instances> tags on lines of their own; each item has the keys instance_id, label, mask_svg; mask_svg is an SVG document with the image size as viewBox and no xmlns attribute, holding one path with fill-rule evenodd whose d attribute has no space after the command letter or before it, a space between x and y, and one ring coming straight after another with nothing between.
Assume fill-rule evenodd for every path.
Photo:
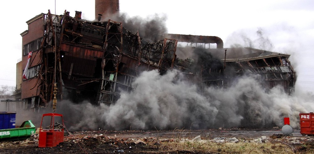
<instances>
[{"instance_id":1,"label":"thick pale grey dust cloud billowing along the building's base","mask_svg":"<svg viewBox=\"0 0 314 154\"><path fill-rule=\"evenodd\" d=\"M265 90L258 75L244 76L226 89L191 85L178 71L160 75L143 72L133 92L122 92L112 105L73 104L61 101L57 112L64 115L70 131L98 129L209 129L299 127L299 113L311 112L312 95L287 95L281 87Z\"/></svg>"}]
</instances>

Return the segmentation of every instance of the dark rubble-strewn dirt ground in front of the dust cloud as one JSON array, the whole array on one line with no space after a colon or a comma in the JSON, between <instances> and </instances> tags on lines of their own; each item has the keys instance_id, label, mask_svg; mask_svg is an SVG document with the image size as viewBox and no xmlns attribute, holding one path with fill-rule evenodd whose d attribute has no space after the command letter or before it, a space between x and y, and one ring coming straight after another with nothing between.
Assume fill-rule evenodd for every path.
<instances>
[{"instance_id":1,"label":"dark rubble-strewn dirt ground in front of the dust cloud","mask_svg":"<svg viewBox=\"0 0 314 154\"><path fill-rule=\"evenodd\" d=\"M171 130L171 131L77 131L72 135L64 136L64 142L56 147L38 147L38 135L19 141L0 141L0 153L229 153L217 149L206 151L200 149L175 148L171 143L179 141L227 141L236 138L239 142L260 141L266 144L261 137L266 136L267 142L283 142L294 152L310 152L314 146L313 136L302 136L300 130L294 130L290 136L284 136L280 129L209 129L209 130ZM290 139L294 138L290 141ZM297 144L292 143L298 141ZM188 142L187 142L188 143ZM234 144L237 144L235 142ZM259 143L257 143L259 144ZM169 145L169 146L167 146ZM274 143L274 145L276 145ZM303 145L307 145L305 148ZM262 146L263 147L263 146ZM239 153L234 151L234 153ZM240 152L241 153L241 152ZM265 151L265 153L269 153ZM272 152L270 152L272 153Z\"/></svg>"}]
</instances>

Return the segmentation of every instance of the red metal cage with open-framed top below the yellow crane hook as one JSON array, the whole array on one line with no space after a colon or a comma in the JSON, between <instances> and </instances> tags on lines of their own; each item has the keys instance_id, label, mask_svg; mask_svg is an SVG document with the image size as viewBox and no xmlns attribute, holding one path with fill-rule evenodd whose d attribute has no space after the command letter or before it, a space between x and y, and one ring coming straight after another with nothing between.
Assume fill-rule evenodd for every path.
<instances>
[{"instance_id":1,"label":"red metal cage with open-framed top below the yellow crane hook","mask_svg":"<svg viewBox=\"0 0 314 154\"><path fill-rule=\"evenodd\" d=\"M42 129L41 125L43 123L44 117L49 117L50 120L50 128ZM55 117L61 117L62 119L62 128L55 128ZM59 143L63 142L64 139L64 123L63 123L63 116L57 113L47 113L42 115L39 131L39 140L38 140L38 147L54 147L57 146Z\"/></svg>"}]
</instances>

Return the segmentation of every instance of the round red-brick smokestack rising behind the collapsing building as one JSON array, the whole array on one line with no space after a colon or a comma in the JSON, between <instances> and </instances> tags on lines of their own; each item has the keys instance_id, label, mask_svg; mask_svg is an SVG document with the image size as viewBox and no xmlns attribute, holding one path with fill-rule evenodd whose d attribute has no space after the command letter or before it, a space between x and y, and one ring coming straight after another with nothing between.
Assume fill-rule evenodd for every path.
<instances>
[{"instance_id":1,"label":"round red-brick smokestack rising behind the collapsing building","mask_svg":"<svg viewBox=\"0 0 314 154\"><path fill-rule=\"evenodd\" d=\"M95 19L98 19L98 14L110 16L119 13L119 9L119 0L95 0Z\"/></svg>"}]
</instances>

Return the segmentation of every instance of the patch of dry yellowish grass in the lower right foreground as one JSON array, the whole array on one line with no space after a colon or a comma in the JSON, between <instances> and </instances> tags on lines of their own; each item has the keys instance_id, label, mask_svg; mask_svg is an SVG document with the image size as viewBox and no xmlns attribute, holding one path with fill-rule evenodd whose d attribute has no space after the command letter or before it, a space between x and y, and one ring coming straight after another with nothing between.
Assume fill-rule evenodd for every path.
<instances>
[{"instance_id":1,"label":"patch of dry yellowish grass in the lower right foreground","mask_svg":"<svg viewBox=\"0 0 314 154\"><path fill-rule=\"evenodd\" d=\"M176 131L176 132L175 132ZM185 130L175 130L173 140L161 142L160 150L163 152L176 151L177 153L244 153L244 154L289 154L289 153L314 153L313 144L290 145L284 141L270 141L266 143L243 142L215 143L206 140L191 141L189 133ZM182 140L183 139L183 140Z\"/></svg>"}]
</instances>

